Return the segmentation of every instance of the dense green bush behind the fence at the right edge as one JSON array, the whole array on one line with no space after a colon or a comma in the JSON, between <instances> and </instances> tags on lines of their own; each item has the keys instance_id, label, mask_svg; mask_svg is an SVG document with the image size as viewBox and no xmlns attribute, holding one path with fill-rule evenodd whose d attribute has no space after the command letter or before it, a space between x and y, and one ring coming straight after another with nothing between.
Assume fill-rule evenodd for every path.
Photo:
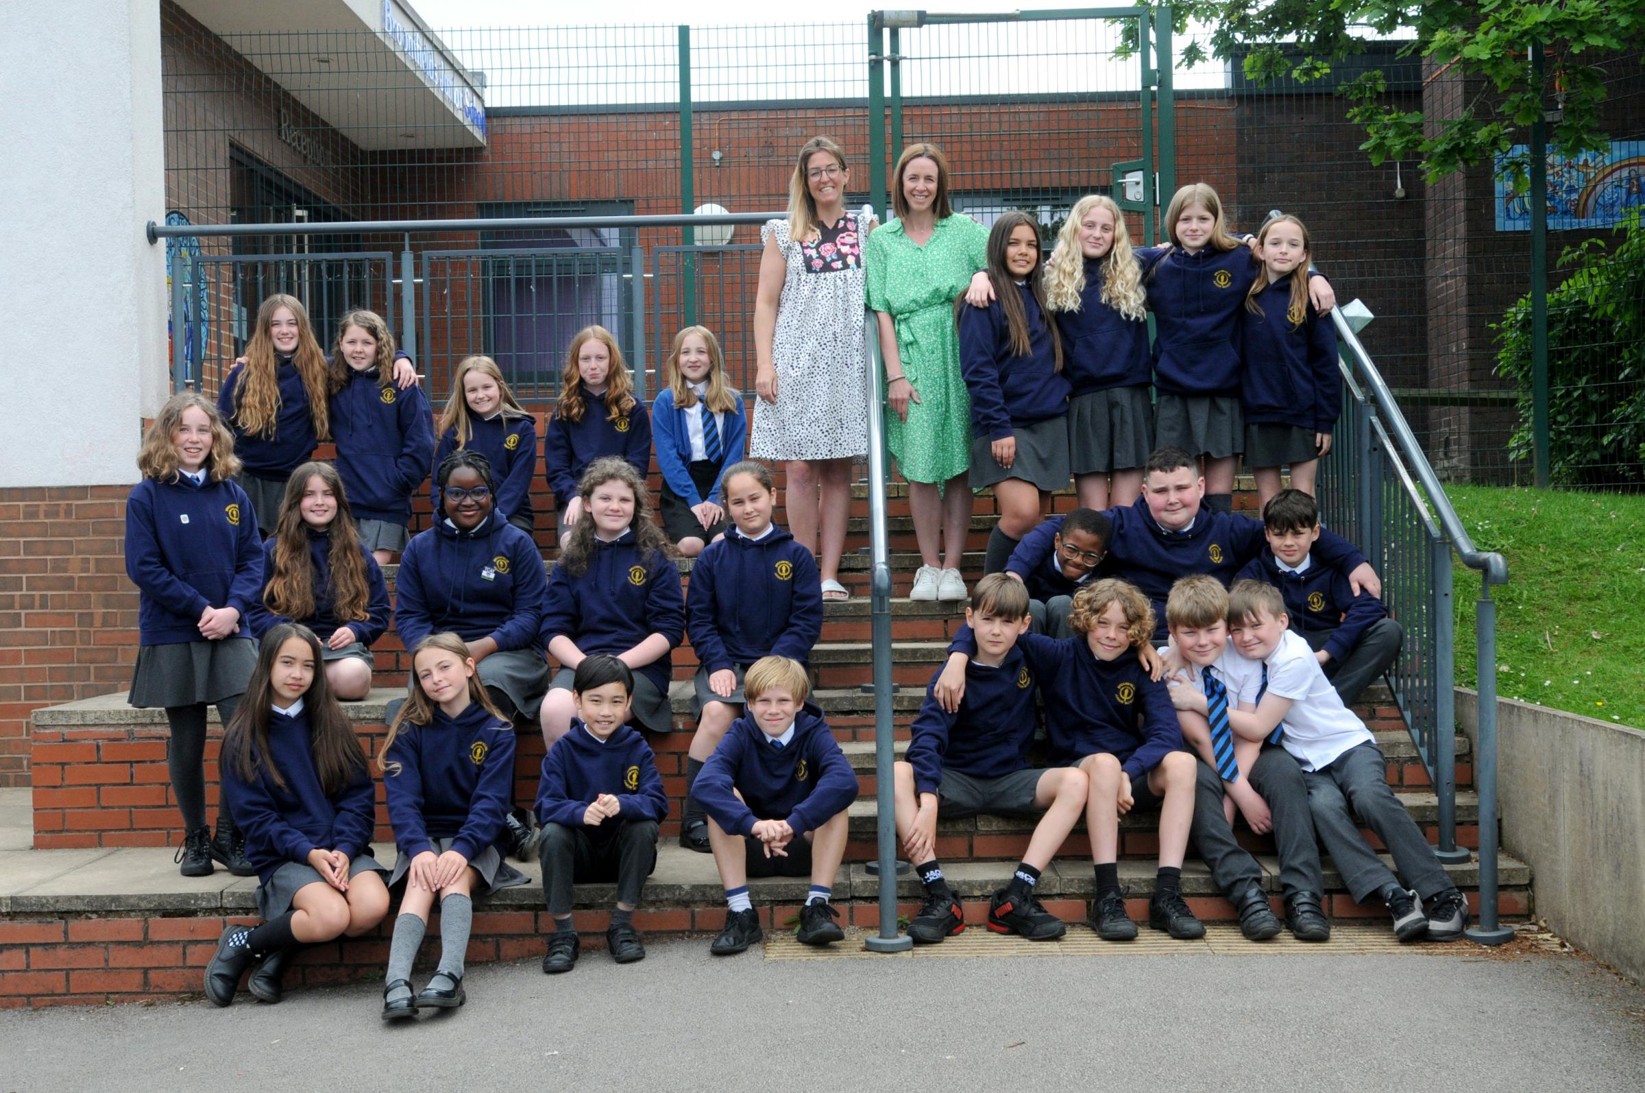
<instances>
[{"instance_id":1,"label":"dense green bush behind the fence at the right edge","mask_svg":"<svg viewBox=\"0 0 1645 1093\"><path fill-rule=\"evenodd\" d=\"M1638 211L1614 249L1591 239L1548 293L1550 472L1559 486L1645 489L1645 227ZM1513 380L1520 413L1512 459L1531 459L1531 301L1497 324L1497 370Z\"/></svg>"}]
</instances>

